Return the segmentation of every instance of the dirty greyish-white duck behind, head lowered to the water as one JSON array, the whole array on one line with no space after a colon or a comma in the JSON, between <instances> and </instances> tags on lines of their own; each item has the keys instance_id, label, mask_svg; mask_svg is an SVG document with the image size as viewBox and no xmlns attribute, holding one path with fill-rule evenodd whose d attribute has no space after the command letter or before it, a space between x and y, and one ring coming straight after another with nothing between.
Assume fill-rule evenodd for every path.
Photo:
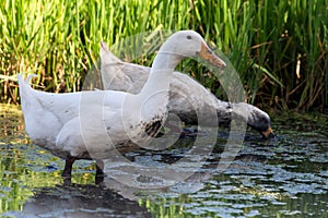
<instances>
[{"instance_id":1,"label":"dirty greyish-white duck behind, head lowered to the water","mask_svg":"<svg viewBox=\"0 0 328 218\"><path fill-rule=\"evenodd\" d=\"M144 85L150 68L127 63L114 56L105 43L101 44L101 73L104 89L137 94ZM180 72L173 72L169 85L168 112L177 114L187 124L197 124L198 116L212 119L209 110L216 110L220 124L232 120L232 112L247 110L247 124L265 137L274 136L268 113L246 102L219 100L200 83Z\"/></svg>"}]
</instances>

